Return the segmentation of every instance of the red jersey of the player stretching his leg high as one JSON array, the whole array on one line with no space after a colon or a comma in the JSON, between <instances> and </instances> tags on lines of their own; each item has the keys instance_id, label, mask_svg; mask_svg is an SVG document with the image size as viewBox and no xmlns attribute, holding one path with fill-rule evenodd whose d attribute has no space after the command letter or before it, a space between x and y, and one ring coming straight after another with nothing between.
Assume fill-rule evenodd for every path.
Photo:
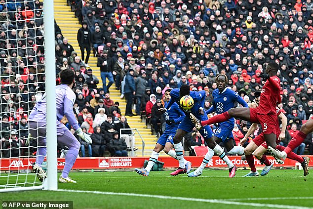
<instances>
[{"instance_id":1,"label":"red jersey of the player stretching his leg high","mask_svg":"<svg viewBox=\"0 0 313 209\"><path fill-rule=\"evenodd\" d=\"M273 76L265 82L262 88L260 105L257 107L257 112L260 114L275 114L276 105L280 103L280 80L277 76Z\"/></svg>"}]
</instances>

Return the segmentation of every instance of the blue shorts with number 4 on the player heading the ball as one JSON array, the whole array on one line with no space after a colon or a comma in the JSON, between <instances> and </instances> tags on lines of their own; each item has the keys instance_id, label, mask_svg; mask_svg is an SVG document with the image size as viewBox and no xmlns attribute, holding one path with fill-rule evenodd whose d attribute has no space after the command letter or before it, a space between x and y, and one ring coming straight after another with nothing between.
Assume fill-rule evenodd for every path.
<instances>
[{"instance_id":1,"label":"blue shorts with number 4 on the player heading the ball","mask_svg":"<svg viewBox=\"0 0 313 209\"><path fill-rule=\"evenodd\" d=\"M198 118L201 121L206 121L208 120L207 115L204 114L201 118ZM178 129L182 129L186 132L191 132L195 125L191 120L189 119L188 116L186 116L183 121L178 125ZM212 137L212 129L209 125L204 126L201 130L199 130L200 134L203 136L204 139L209 139Z\"/></svg>"}]
</instances>

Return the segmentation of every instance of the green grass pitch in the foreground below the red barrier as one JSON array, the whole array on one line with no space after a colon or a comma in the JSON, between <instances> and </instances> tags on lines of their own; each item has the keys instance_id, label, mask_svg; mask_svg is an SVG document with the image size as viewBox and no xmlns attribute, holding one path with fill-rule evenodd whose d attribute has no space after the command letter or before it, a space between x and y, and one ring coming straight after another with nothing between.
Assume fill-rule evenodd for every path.
<instances>
[{"instance_id":1,"label":"green grass pitch in the foreground below the red barrier","mask_svg":"<svg viewBox=\"0 0 313 209\"><path fill-rule=\"evenodd\" d=\"M74 201L75 209L309 209L313 207L312 175L304 177L302 170L275 169L267 176L241 177L248 171L238 170L234 178L228 177L227 170L209 169L205 169L202 176L196 178L189 178L185 174L170 176L168 170L151 171L149 177L140 176L134 171L71 172L70 176L78 183L59 183L59 189L100 193L10 192L1 193L0 201ZM3 183L4 178L1 177L0 184ZM108 194L108 192L112 193ZM137 194L148 196L136 196Z\"/></svg>"}]
</instances>

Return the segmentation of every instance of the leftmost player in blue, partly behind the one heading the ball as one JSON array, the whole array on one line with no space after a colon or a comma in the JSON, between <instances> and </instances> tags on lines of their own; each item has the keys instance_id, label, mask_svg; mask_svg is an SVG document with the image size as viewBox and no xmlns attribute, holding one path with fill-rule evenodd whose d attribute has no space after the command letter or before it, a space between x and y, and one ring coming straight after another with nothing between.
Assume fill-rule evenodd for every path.
<instances>
[{"instance_id":1,"label":"leftmost player in blue, partly behind the one heading the ball","mask_svg":"<svg viewBox=\"0 0 313 209\"><path fill-rule=\"evenodd\" d=\"M171 99L170 96L171 89L166 89L164 92L165 96L165 105ZM164 150L164 152L177 159L175 151L173 151L173 137L175 132L177 131L177 127L180 122L184 119L185 113L181 111L176 103L174 103L168 110L164 113L165 114L165 131L164 133L158 138L156 147L153 149L152 154L149 158L149 162L147 167L144 169L135 168L135 171L143 176L148 176L151 168L157 162L158 154ZM187 173L191 170L191 163L184 159L185 166L187 168ZM171 173L172 174L172 173Z\"/></svg>"}]
</instances>

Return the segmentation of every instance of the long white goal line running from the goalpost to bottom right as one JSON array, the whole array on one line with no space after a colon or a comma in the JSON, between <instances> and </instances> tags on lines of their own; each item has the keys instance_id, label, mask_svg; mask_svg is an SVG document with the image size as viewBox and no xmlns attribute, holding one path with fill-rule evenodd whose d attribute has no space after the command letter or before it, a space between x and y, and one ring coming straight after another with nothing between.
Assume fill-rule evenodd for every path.
<instances>
[{"instance_id":1,"label":"long white goal line running from the goalpost to bottom right","mask_svg":"<svg viewBox=\"0 0 313 209\"><path fill-rule=\"evenodd\" d=\"M58 191L60 191L60 192L76 192L76 193L92 193L92 194L100 194L100 195L120 195L120 196L131 196L131 197L147 197L147 198L158 198L158 199L167 199L167 200L182 200L182 201L215 203L215 204L225 204L225 205L253 206L253 207L260 207L260 208L268 207L268 208L277 208L277 209L313 209L313 208L301 207L301 206L274 205L274 204L261 204L261 203L242 203L242 202L231 202L231 201L217 200L217 199L199 199L199 198L172 197L172 196L163 196L163 195L145 195L145 194L135 194L135 193L82 191L82 190L68 190L68 189L59 189Z\"/></svg>"}]
</instances>

